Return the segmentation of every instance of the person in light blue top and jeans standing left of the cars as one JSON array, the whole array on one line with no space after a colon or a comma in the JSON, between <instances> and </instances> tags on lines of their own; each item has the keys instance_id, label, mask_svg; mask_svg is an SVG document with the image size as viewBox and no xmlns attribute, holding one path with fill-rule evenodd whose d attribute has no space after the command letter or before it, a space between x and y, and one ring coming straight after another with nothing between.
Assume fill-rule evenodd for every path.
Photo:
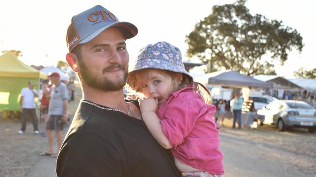
<instances>
[{"instance_id":1,"label":"person in light blue top and jeans standing left of the cars","mask_svg":"<svg viewBox=\"0 0 316 177\"><path fill-rule=\"evenodd\" d=\"M244 99L239 93L234 94L234 99L230 101L232 103L232 110L233 110L233 124L232 128L235 128L236 121L238 122L238 129L241 129L242 121L241 121L241 114L242 114L242 106Z\"/></svg>"}]
</instances>

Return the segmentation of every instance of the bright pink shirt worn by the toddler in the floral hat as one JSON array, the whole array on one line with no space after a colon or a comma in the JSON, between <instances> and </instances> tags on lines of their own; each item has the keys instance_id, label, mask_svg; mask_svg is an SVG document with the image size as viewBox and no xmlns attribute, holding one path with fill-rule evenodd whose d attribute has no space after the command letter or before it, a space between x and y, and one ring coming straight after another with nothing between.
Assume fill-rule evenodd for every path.
<instances>
[{"instance_id":1,"label":"bright pink shirt worn by the toddler in the floral hat","mask_svg":"<svg viewBox=\"0 0 316 177\"><path fill-rule=\"evenodd\" d=\"M159 107L162 131L182 163L212 174L224 174L219 130L212 118L216 107L206 104L192 86L171 93Z\"/></svg>"}]
</instances>

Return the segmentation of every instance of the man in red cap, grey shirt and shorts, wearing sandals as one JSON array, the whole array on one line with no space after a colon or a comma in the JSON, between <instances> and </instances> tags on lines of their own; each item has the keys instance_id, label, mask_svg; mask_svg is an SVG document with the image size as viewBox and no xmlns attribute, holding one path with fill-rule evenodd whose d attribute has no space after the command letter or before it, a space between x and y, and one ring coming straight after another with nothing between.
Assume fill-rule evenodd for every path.
<instances>
[{"instance_id":1,"label":"man in red cap, grey shirt and shorts, wearing sandals","mask_svg":"<svg viewBox=\"0 0 316 177\"><path fill-rule=\"evenodd\" d=\"M49 119L46 122L48 150L41 155L57 157L57 154L53 153L53 130L57 136L58 152L63 143L63 126L68 119L68 88L64 83L60 82L60 75L58 73L52 73L49 75L49 78L51 79L53 87L48 109Z\"/></svg>"}]
</instances>

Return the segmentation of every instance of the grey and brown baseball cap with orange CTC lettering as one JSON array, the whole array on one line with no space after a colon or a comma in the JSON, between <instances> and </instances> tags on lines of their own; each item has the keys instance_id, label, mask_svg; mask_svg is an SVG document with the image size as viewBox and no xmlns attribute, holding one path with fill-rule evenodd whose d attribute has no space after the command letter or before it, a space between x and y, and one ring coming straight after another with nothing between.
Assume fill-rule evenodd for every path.
<instances>
[{"instance_id":1,"label":"grey and brown baseball cap with orange CTC lettering","mask_svg":"<svg viewBox=\"0 0 316 177\"><path fill-rule=\"evenodd\" d=\"M125 39L130 39L138 33L135 25L120 22L113 13L101 5L96 5L72 17L66 36L69 51L78 44L89 42L108 28L120 29Z\"/></svg>"}]
</instances>

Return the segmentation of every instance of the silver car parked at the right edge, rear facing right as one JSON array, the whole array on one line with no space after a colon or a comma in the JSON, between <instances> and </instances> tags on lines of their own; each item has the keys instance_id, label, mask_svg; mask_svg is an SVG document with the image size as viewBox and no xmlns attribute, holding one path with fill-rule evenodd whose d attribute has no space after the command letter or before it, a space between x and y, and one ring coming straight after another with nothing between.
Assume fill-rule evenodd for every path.
<instances>
[{"instance_id":1,"label":"silver car parked at the right edge, rear facing right","mask_svg":"<svg viewBox=\"0 0 316 177\"><path fill-rule=\"evenodd\" d=\"M259 109L257 114L264 116L260 120L263 124L275 125L279 131L287 127L303 127L311 133L316 131L316 109L306 102L275 100Z\"/></svg>"}]
</instances>

